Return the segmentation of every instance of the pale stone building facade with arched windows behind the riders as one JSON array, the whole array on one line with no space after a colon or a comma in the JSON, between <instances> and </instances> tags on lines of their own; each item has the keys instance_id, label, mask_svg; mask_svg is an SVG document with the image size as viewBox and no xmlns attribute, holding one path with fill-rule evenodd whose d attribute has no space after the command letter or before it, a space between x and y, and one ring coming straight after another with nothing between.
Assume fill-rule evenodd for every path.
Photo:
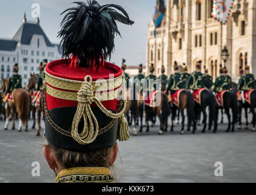
<instances>
[{"instance_id":1,"label":"pale stone building facade with arched windows behind the riders","mask_svg":"<svg viewBox=\"0 0 256 195\"><path fill-rule=\"evenodd\" d=\"M215 79L219 65L223 65L224 46L229 51L226 67L234 82L238 82L240 66L247 64L256 74L256 1L235 0L226 25L212 18L212 0L166 0L166 4L157 0L159 7L165 7L165 18L156 29L156 37L153 19L148 27L147 74L151 63L158 76L162 65L169 75L174 61L186 63L192 72L202 60L202 72L205 66Z\"/></svg>"}]
</instances>

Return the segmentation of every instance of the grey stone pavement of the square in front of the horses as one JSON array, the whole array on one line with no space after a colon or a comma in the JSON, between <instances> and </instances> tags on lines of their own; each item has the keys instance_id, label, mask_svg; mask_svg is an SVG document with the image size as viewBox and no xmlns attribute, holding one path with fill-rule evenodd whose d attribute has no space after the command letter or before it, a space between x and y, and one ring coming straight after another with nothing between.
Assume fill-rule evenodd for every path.
<instances>
[{"instance_id":1,"label":"grey stone pavement of the square in front of the horses","mask_svg":"<svg viewBox=\"0 0 256 195\"><path fill-rule=\"evenodd\" d=\"M116 177L119 182L256 182L256 133L243 128L225 133L226 127L220 124L216 134L200 133L201 126L195 135L179 135L179 125L165 135L158 135L158 126L138 133L119 143ZM32 129L3 129L0 121L0 182L54 182L42 152L46 140ZM40 163L40 177L32 177L34 161ZM223 163L223 177L214 174L216 161Z\"/></svg>"}]
</instances>

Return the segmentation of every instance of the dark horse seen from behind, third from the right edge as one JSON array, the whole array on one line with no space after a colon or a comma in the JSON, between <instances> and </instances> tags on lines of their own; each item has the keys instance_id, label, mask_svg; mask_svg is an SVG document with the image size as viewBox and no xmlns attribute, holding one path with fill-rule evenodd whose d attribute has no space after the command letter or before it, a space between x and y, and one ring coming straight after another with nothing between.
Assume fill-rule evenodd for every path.
<instances>
[{"instance_id":1,"label":"dark horse seen from behind, third from the right edge","mask_svg":"<svg viewBox=\"0 0 256 195\"><path fill-rule=\"evenodd\" d=\"M195 107L194 112L196 118L198 119L203 114L203 121L204 127L202 129L202 133L205 133L205 129L207 127L207 113L206 108L209 108L209 122L208 122L208 130L212 129L212 124L214 122L214 130L213 132L216 133L217 130L217 120L216 120L216 110L215 110L215 96L213 95L212 91L205 89L202 90L200 93L201 103L194 101Z\"/></svg>"}]
</instances>

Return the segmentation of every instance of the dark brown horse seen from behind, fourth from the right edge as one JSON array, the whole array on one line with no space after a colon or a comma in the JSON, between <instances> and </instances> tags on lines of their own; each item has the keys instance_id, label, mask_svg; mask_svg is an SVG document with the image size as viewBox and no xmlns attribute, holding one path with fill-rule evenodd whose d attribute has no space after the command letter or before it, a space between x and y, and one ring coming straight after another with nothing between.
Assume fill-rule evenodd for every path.
<instances>
[{"instance_id":1,"label":"dark brown horse seen from behind, fourth from the right edge","mask_svg":"<svg viewBox=\"0 0 256 195\"><path fill-rule=\"evenodd\" d=\"M171 91L171 94L174 91ZM174 130L174 119L176 118L177 110L180 110L180 113L182 115L182 129L180 130L180 134L184 134L184 127L185 127L185 114L184 110L187 108L187 116L188 116L188 125L187 125L187 131L190 132L191 123L193 122L193 131L192 133L195 133L196 131L196 118L194 115L194 101L193 96L188 90L183 90L179 94L179 105L175 105L172 102L170 102L171 109L172 109L172 117L171 117L171 132Z\"/></svg>"}]
</instances>

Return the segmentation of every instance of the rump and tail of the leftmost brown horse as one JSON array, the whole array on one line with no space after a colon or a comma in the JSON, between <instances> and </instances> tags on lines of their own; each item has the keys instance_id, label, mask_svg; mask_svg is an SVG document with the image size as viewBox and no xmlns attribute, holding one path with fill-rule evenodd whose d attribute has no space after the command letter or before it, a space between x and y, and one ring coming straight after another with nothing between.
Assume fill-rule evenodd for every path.
<instances>
[{"instance_id":1,"label":"rump and tail of the leftmost brown horse","mask_svg":"<svg viewBox=\"0 0 256 195\"><path fill-rule=\"evenodd\" d=\"M16 90L16 94L13 96L18 116L23 124L25 124L29 116L29 93L26 90L19 89Z\"/></svg>"}]
</instances>

